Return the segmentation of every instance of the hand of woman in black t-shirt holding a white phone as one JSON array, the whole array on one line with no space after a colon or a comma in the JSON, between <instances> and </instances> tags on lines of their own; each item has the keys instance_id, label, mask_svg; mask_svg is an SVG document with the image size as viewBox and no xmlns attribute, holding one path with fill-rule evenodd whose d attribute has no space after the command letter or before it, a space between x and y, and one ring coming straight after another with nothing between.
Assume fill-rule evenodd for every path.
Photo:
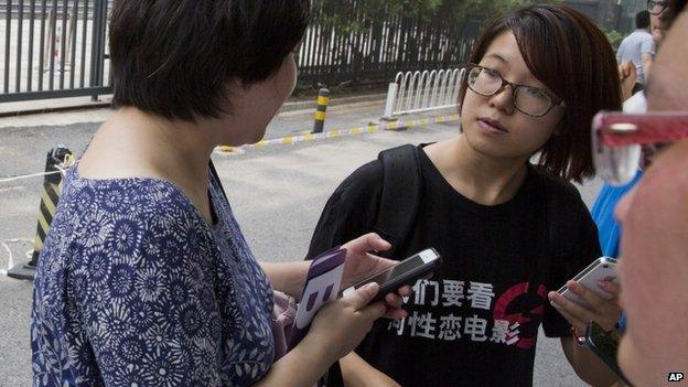
<instances>
[{"instance_id":1,"label":"hand of woman in black t-shirt holding a white phone","mask_svg":"<svg viewBox=\"0 0 688 387\"><path fill-rule=\"evenodd\" d=\"M559 313L571 323L579 335L585 332L585 324L591 320L600 324L605 331L611 331L616 326L616 322L621 318L619 286L616 283L612 281L598 282L600 289L613 295L610 300L604 300L576 281L568 281L567 287L573 294L585 300L589 307L581 307L555 291L549 292L548 295L552 307L557 308Z\"/></svg>"}]
</instances>

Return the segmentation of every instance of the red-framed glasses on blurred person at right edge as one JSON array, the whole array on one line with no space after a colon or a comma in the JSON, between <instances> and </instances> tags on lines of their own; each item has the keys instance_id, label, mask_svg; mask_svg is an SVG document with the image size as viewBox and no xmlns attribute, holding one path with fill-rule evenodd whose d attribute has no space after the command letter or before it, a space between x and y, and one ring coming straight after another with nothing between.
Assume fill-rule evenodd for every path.
<instances>
[{"instance_id":1,"label":"red-framed glasses on blurred person at right edge","mask_svg":"<svg viewBox=\"0 0 688 387\"><path fill-rule=\"evenodd\" d=\"M601 111L592 120L595 170L612 185L626 184L635 178L644 150L684 138L688 138L688 111Z\"/></svg>"}]
</instances>

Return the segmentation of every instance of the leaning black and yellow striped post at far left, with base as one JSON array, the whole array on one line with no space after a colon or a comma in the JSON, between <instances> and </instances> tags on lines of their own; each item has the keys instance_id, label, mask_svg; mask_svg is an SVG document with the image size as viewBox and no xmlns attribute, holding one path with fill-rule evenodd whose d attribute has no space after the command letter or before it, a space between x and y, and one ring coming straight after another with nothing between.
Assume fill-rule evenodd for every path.
<instances>
[{"instance_id":1,"label":"leaning black and yellow striped post at far left, with base","mask_svg":"<svg viewBox=\"0 0 688 387\"><path fill-rule=\"evenodd\" d=\"M39 225L36 229L36 236L33 241L33 254L31 261L26 265L17 265L9 272L8 277L33 280L35 277L36 265L39 264L39 256L43 249L43 243L50 230L53 216L57 209L57 202L60 201L60 194L62 193L62 173L57 165L60 165L72 152L64 147L57 147L47 152L47 160L45 161L45 179L43 180L43 190L41 190L41 205L39 206Z\"/></svg>"}]
</instances>

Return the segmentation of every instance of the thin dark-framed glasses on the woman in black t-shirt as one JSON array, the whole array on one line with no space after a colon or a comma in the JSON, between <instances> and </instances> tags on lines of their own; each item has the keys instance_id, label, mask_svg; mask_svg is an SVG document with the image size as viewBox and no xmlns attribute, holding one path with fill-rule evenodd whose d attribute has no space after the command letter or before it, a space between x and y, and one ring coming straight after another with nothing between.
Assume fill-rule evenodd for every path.
<instances>
[{"instance_id":1,"label":"thin dark-framed glasses on the woman in black t-shirt","mask_svg":"<svg viewBox=\"0 0 688 387\"><path fill-rule=\"evenodd\" d=\"M466 84L471 90L486 97L509 86L516 110L530 117L542 117L555 106L563 106L563 101L550 93L534 86L510 83L496 71L476 64L469 64Z\"/></svg>"}]
</instances>

